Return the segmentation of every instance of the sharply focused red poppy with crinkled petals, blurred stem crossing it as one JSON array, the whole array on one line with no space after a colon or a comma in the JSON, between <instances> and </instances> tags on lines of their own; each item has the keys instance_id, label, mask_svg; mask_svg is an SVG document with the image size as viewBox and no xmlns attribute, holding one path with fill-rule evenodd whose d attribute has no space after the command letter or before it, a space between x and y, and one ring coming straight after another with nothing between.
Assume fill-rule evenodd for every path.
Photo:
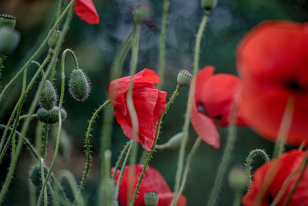
<instances>
[{"instance_id":1,"label":"sharply focused red poppy with crinkled petals, blurred stem crossing it","mask_svg":"<svg viewBox=\"0 0 308 206\"><path fill-rule=\"evenodd\" d=\"M129 82L130 76L113 80L107 91L117 122L124 134L132 139L132 122L126 106ZM134 75L133 102L139 122L138 141L148 151L153 146L158 120L167 98L167 92L156 89L154 83L160 83L160 78L150 69L145 68Z\"/></svg>"}]
</instances>

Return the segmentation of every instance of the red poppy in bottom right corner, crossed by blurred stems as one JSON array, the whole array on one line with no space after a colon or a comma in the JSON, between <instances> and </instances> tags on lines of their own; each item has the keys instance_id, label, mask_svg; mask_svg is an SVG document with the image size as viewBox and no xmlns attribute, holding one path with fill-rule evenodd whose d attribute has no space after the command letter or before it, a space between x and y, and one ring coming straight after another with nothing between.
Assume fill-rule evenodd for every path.
<instances>
[{"instance_id":1,"label":"red poppy in bottom right corner, crossed by blurred stems","mask_svg":"<svg viewBox=\"0 0 308 206\"><path fill-rule=\"evenodd\" d=\"M253 182L251 183L251 189L249 192L243 197L242 203L244 206L253 205L255 201L255 197L260 190L260 187L264 181L264 178L268 171L271 169L272 165L278 167L278 172L272 178L271 182L269 182L269 187L265 195L263 196L263 200L260 206L267 206L272 203L272 201L277 196L279 190L281 189L284 181L287 177L298 167L299 163L305 158L306 151L301 151L298 149L290 150L288 152L283 153L276 159L270 161L270 163L264 163L261 167L259 167L252 175ZM288 194L290 193L292 187L297 181L301 170L298 171L296 175L291 179L290 183L286 187L285 193L282 195L282 198L279 200L276 205L283 205ZM294 191L290 202L288 205L298 205L304 206L308 205L308 169L305 170L302 179L300 180L296 190Z\"/></svg>"}]
</instances>

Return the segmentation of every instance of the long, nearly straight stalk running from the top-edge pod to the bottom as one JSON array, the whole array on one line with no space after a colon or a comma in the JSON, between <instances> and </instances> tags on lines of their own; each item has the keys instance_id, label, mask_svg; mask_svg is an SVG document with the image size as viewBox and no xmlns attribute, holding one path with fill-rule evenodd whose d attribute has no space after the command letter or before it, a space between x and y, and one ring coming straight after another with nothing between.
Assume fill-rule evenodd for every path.
<instances>
[{"instance_id":1,"label":"long, nearly straight stalk running from the top-edge pod to the bottom","mask_svg":"<svg viewBox=\"0 0 308 206\"><path fill-rule=\"evenodd\" d=\"M205 11L205 14L203 15L199 30L197 32L196 37L196 43L195 43L195 50L194 50L194 59L193 59L193 76L195 77L199 70L199 57L200 57L200 45L201 45L201 39L202 34L205 29L206 22L209 18L209 11ZM195 78L192 79L192 82L190 84L190 90L189 90L189 97L188 97L188 103L187 103L187 109L185 112L185 119L184 119L184 129L183 129L183 139L180 146L180 152L179 152L179 160L177 164L177 171L176 171L176 179L175 179L175 186L174 186L174 192L177 194L179 192L180 188L180 181L181 176L183 172L183 163L184 163L184 155L185 155L185 148L187 144L188 139L188 129L190 124L190 110L191 105L193 103L193 96L195 93L195 85L196 81Z\"/></svg>"}]
</instances>

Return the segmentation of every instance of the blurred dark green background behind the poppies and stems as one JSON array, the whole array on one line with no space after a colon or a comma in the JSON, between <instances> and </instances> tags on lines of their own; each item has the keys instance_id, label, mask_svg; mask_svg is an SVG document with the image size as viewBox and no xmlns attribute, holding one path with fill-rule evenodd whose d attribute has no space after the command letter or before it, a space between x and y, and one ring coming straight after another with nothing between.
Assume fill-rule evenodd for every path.
<instances>
[{"instance_id":1,"label":"blurred dark green background behind the poppies and stems","mask_svg":"<svg viewBox=\"0 0 308 206\"><path fill-rule=\"evenodd\" d=\"M56 4L58 1L46 0L1 0L0 13L12 14L17 17L16 29L21 32L21 42L17 50L14 51L5 60L1 86L13 77L19 71L22 64L36 50L43 38L47 35L49 28L55 19ZM70 170L77 181L81 180L83 175L83 166L86 162L84 154L84 133L87 130L87 120L91 118L92 113L103 104L107 99L107 85L109 84L109 74L112 60L115 52L124 41L132 26L131 19L127 13L134 7L137 1L125 0L95 0L95 6L100 16L98 25L88 25L82 22L75 14L67 33L62 51L71 48L75 51L79 59L79 67L87 72L91 80L92 91L90 97L84 102L77 102L71 98L66 88L63 107L68 112L68 118L63 123L66 130L69 143L67 150L69 156L57 159L54 172L65 168ZM159 32L153 34L150 31L141 31L140 53L138 62L138 71L144 68L150 68L158 72L159 68L159 36L162 15L163 1L151 1L153 7L152 16L157 23ZM166 33L166 56L165 56L165 81L163 90L167 91L169 96L175 89L176 76L180 69L192 71L193 49L195 44L195 35L201 22L203 10L200 2L197 0L173 0L170 1L168 16L168 27ZM227 72L236 74L235 49L241 37L250 28L264 20L286 19L298 22L308 21L308 2L306 0L218 0L217 6L211 11L209 22L205 28L201 42L200 68L205 65L214 65L216 73ZM48 48L46 46L46 54ZM42 62L46 54L36 58L36 61ZM124 64L122 76L128 75L129 56ZM71 57L66 58L66 81L74 68ZM32 68L32 69L31 69ZM55 87L60 89L60 64L57 67ZM35 72L34 66L29 67L28 78ZM36 91L38 84L31 89L26 99L23 114L31 103L31 99ZM14 84L14 87L6 94L4 101L0 104L1 123L5 124L12 106L16 104L20 95L21 78ZM188 98L188 87L183 88L183 95L180 94L174 104L170 107L168 115L164 117L159 144L166 142L172 135L181 131L184 123L184 112ZM95 203L98 178L98 154L100 144L100 134L102 128L102 113L99 114L96 123L93 125L91 137L91 163L89 178L85 184L84 197L87 205ZM30 126L28 137L33 140L36 120ZM205 205L209 199L213 182L217 173L222 152L225 148L227 129L219 129L221 134L221 148L214 149L212 146L202 142L197 153L193 158L191 169L188 174L188 180L184 190L184 195L188 199L188 205ZM2 132L2 131L1 131ZM190 129L192 142L197 135ZM265 141L255 134L248 127L238 128L238 137L236 148L233 152L230 168L236 164L244 165L249 151L256 148L264 148L271 154L273 144ZM123 148L128 138L123 134L120 126L114 124L112 134L112 160L115 163L120 150ZM49 141L47 165L50 164L53 156L54 142ZM189 152L191 145L187 147ZM290 148L287 148L289 150ZM140 147L139 155L142 150ZM0 181L3 182L7 167L9 166L10 155L6 155L3 163L0 165ZM169 186L173 188L177 167L178 151L160 150L153 154L150 166L157 168L164 176ZM253 169L262 164L261 158L256 158L253 163ZM20 155L17 169L6 194L3 205L28 205L28 177L30 167L33 165L32 155L26 146ZM71 195L70 189L65 188ZM233 200L233 191L230 189L227 181L224 181L221 196L218 205L231 205Z\"/></svg>"}]
</instances>

